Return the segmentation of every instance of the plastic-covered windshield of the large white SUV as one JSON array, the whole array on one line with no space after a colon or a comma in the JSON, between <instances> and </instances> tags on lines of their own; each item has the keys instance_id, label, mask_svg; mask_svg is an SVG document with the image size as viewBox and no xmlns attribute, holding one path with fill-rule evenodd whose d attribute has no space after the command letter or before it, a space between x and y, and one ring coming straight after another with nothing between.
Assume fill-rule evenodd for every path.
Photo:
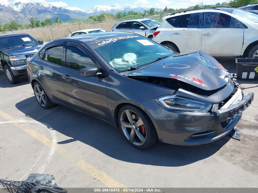
<instances>
[{"instance_id":1,"label":"plastic-covered windshield of the large white SUV","mask_svg":"<svg viewBox=\"0 0 258 193\"><path fill-rule=\"evenodd\" d=\"M232 9L232 8L225 8L223 11L228 13L232 13L233 15L241 18L243 21L250 22L250 23L258 23L258 15L255 13L247 12L241 9Z\"/></svg>"}]
</instances>

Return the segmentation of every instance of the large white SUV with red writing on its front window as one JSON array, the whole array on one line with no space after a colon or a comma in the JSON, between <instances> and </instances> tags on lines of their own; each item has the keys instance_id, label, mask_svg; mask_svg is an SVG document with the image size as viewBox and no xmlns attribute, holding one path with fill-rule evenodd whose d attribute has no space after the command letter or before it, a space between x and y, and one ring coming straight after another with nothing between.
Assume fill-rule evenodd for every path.
<instances>
[{"instance_id":1,"label":"large white SUV with red writing on its front window","mask_svg":"<svg viewBox=\"0 0 258 193\"><path fill-rule=\"evenodd\" d=\"M227 7L173 13L163 18L153 40L181 53L258 58L258 16Z\"/></svg>"}]
</instances>

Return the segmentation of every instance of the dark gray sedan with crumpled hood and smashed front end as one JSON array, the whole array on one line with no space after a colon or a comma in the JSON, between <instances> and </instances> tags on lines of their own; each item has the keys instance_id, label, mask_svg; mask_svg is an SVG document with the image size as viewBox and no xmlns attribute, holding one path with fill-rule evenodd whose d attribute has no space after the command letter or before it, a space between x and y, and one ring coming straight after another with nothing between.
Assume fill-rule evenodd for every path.
<instances>
[{"instance_id":1,"label":"dark gray sedan with crumpled hood and smashed front end","mask_svg":"<svg viewBox=\"0 0 258 193\"><path fill-rule=\"evenodd\" d=\"M52 41L27 60L40 106L55 103L120 127L144 149L199 145L229 133L253 101L205 52L178 54L138 34Z\"/></svg>"}]
</instances>

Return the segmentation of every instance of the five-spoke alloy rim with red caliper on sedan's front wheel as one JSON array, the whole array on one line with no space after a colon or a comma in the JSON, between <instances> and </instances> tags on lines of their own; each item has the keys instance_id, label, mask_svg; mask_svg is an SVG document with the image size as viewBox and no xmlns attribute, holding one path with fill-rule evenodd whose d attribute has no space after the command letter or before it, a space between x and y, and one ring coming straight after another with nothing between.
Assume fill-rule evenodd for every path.
<instances>
[{"instance_id":1,"label":"five-spoke alloy rim with red caliper on sedan's front wheel","mask_svg":"<svg viewBox=\"0 0 258 193\"><path fill-rule=\"evenodd\" d=\"M124 110L120 117L120 123L125 137L134 145L144 145L146 141L145 125L135 112Z\"/></svg>"}]
</instances>

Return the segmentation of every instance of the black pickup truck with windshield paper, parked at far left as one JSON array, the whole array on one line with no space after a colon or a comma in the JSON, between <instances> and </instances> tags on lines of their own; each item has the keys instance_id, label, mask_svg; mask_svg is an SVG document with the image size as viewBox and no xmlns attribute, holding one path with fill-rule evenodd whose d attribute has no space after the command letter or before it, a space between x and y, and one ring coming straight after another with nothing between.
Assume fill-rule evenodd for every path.
<instances>
[{"instance_id":1,"label":"black pickup truck with windshield paper, parked at far left","mask_svg":"<svg viewBox=\"0 0 258 193\"><path fill-rule=\"evenodd\" d=\"M19 82L27 74L26 59L42 46L42 40L35 40L28 34L0 35L0 71L4 71L11 84Z\"/></svg>"}]
</instances>

